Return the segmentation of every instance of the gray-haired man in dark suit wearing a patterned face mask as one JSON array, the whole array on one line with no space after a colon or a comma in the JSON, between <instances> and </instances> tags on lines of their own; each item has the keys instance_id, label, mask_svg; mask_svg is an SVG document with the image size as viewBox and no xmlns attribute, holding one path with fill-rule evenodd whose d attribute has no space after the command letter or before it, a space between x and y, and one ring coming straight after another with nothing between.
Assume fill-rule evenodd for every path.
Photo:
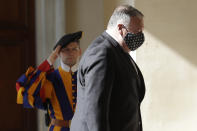
<instances>
[{"instance_id":1,"label":"gray-haired man in dark suit wearing a patterned face mask","mask_svg":"<svg viewBox=\"0 0 197 131\"><path fill-rule=\"evenodd\" d=\"M130 57L144 42L143 14L122 5L84 53L71 131L142 131L143 76Z\"/></svg>"}]
</instances>

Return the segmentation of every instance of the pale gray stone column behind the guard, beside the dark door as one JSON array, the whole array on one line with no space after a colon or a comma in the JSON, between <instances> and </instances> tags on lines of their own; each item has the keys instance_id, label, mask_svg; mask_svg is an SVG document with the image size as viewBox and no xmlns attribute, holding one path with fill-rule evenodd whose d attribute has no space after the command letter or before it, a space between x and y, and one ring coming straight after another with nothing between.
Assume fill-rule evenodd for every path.
<instances>
[{"instance_id":1,"label":"pale gray stone column behind the guard, beside the dark door","mask_svg":"<svg viewBox=\"0 0 197 131\"><path fill-rule=\"evenodd\" d=\"M65 33L65 1L36 0L36 63L51 53L56 41ZM58 65L58 62L56 62ZM38 131L47 131L45 111L38 110Z\"/></svg>"}]
</instances>

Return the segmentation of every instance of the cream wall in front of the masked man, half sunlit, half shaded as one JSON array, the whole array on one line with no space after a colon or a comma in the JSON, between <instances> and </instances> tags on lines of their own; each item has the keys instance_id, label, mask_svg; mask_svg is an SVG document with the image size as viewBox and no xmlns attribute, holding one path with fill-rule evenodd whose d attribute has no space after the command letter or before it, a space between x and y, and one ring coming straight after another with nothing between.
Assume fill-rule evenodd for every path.
<instances>
[{"instance_id":1,"label":"cream wall in front of the masked man, half sunlit, half shaded","mask_svg":"<svg viewBox=\"0 0 197 131\"><path fill-rule=\"evenodd\" d=\"M145 15L145 44L137 51L147 85L145 131L196 131L197 17L195 0L136 0Z\"/></svg>"}]
</instances>

